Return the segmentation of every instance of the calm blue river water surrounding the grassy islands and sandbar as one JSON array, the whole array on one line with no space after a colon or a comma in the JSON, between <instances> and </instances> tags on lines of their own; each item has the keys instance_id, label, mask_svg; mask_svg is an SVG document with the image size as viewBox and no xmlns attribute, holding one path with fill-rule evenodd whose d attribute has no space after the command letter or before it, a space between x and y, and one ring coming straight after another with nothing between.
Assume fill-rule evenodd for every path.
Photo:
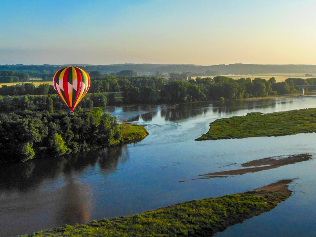
<instances>
[{"instance_id":1,"label":"calm blue river water surrounding the grassy islands and sandbar","mask_svg":"<svg viewBox=\"0 0 316 237\"><path fill-rule=\"evenodd\" d=\"M314 96L289 96L109 109L106 112L119 118L147 125L149 136L123 146L1 165L0 236L244 192L286 178L297 178L290 185L294 192L289 199L216 236L315 236L315 133L194 141L218 118L315 104ZM311 153L313 159L245 175L179 183L199 174L236 169L253 159L299 153Z\"/></svg>"}]
</instances>

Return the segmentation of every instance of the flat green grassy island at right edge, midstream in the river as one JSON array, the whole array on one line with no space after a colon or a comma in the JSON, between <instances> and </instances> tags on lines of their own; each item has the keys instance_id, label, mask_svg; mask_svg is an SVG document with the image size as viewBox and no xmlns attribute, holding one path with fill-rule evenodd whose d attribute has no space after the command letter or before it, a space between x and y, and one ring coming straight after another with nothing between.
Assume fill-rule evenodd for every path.
<instances>
[{"instance_id":1,"label":"flat green grassy island at right edge, midstream in the river","mask_svg":"<svg viewBox=\"0 0 316 237\"><path fill-rule=\"evenodd\" d=\"M210 123L210 130L206 134L195 140L284 136L315 131L316 109L300 109L217 119Z\"/></svg>"}]
</instances>

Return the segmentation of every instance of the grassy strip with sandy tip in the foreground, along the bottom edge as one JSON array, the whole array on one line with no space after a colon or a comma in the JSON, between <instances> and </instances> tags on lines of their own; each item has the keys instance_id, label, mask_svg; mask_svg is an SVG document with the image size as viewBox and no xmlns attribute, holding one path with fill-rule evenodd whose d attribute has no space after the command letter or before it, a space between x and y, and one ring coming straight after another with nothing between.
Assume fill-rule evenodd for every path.
<instances>
[{"instance_id":1,"label":"grassy strip with sandy tip in the foreground, along the bottom edge","mask_svg":"<svg viewBox=\"0 0 316 237\"><path fill-rule=\"evenodd\" d=\"M253 191L180 203L75 226L65 225L31 236L212 236L218 231L270 211L291 195L283 180Z\"/></svg>"}]
</instances>

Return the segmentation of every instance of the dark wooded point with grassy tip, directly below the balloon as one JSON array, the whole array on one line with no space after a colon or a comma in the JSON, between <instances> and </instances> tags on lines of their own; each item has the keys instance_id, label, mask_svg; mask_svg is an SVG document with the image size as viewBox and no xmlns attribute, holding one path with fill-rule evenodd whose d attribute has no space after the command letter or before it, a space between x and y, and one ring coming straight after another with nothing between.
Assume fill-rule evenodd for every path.
<instances>
[{"instance_id":1,"label":"dark wooded point with grassy tip, directly below the balloon","mask_svg":"<svg viewBox=\"0 0 316 237\"><path fill-rule=\"evenodd\" d=\"M77 110L73 116L50 108L0 113L0 164L87 151L147 134L143 126L118 124L101 108Z\"/></svg>"}]
</instances>

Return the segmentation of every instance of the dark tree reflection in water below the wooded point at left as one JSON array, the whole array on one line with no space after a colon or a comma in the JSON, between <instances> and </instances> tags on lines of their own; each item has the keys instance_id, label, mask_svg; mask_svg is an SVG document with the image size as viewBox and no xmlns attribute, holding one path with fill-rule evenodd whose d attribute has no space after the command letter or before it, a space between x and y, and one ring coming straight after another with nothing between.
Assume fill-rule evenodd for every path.
<instances>
[{"instance_id":1,"label":"dark tree reflection in water below the wooded point at left","mask_svg":"<svg viewBox=\"0 0 316 237\"><path fill-rule=\"evenodd\" d=\"M128 159L127 145L106 147L88 152L73 153L61 157L31 160L25 163L0 167L0 193L9 190L27 192L43 181L54 179L61 173L80 175L98 164L103 174L116 170L119 162Z\"/></svg>"}]
</instances>

